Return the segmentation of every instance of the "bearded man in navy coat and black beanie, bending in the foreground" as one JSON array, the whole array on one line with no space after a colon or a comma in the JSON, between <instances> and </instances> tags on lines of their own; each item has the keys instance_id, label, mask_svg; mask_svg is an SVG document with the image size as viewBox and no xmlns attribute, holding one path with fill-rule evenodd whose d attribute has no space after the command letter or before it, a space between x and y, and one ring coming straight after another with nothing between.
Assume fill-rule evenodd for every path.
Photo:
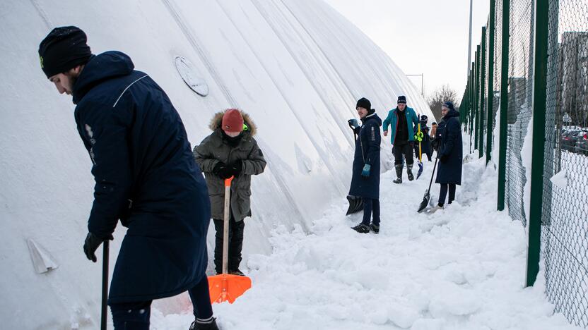
<instances>
[{"instance_id":1,"label":"bearded man in navy coat and black beanie, bending in the foreground","mask_svg":"<svg viewBox=\"0 0 588 330\"><path fill-rule=\"evenodd\" d=\"M78 27L52 30L39 55L47 78L77 105L93 164L86 257L96 262L119 220L128 228L110 283L114 329L148 329L152 300L184 291L192 329L218 329L205 274L208 191L172 102L126 54L91 54Z\"/></svg>"}]
</instances>

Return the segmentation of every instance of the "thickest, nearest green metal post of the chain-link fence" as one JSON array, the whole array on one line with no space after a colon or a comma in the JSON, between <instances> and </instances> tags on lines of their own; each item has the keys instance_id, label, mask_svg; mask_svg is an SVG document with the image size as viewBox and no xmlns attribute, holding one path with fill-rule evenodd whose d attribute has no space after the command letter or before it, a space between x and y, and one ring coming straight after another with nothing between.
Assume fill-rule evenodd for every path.
<instances>
[{"instance_id":1,"label":"thickest, nearest green metal post of the chain-link fence","mask_svg":"<svg viewBox=\"0 0 588 330\"><path fill-rule=\"evenodd\" d=\"M545 162L545 111L547 90L547 54L549 0L535 1L535 59L533 79L533 150L531 164L531 201L529 209L529 253L527 286L539 273L541 250L541 212L543 212L543 166Z\"/></svg>"}]
</instances>

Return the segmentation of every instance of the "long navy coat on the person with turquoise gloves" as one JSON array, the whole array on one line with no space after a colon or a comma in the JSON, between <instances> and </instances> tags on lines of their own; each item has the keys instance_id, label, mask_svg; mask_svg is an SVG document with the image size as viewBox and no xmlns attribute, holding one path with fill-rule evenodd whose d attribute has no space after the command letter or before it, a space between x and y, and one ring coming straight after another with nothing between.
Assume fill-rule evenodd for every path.
<instances>
[{"instance_id":1,"label":"long navy coat on the person with turquoise gloves","mask_svg":"<svg viewBox=\"0 0 588 330\"><path fill-rule=\"evenodd\" d=\"M362 119L362 126L355 129L358 139L355 140L353 157L353 175L349 195L378 199L380 198L380 126L382 119L371 114ZM370 164L370 176L361 176L363 166Z\"/></svg>"}]
</instances>

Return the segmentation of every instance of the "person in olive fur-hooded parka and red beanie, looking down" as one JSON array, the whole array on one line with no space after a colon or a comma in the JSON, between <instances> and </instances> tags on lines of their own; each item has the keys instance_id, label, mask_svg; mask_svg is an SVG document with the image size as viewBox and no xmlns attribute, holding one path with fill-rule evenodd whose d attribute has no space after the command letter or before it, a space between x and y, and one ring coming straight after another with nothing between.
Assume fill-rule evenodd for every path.
<instances>
[{"instance_id":1,"label":"person in olive fur-hooded parka and red beanie, looking down","mask_svg":"<svg viewBox=\"0 0 588 330\"><path fill-rule=\"evenodd\" d=\"M251 176L263 173L266 161L253 138L257 130L249 115L238 109L215 114L209 126L213 133L194 147L194 159L199 164L208 185L211 216L216 229L214 265L217 274L223 270L223 228L226 178L234 176L230 188L230 221L228 272L243 275L239 270L243 247L245 217L251 216Z\"/></svg>"}]
</instances>

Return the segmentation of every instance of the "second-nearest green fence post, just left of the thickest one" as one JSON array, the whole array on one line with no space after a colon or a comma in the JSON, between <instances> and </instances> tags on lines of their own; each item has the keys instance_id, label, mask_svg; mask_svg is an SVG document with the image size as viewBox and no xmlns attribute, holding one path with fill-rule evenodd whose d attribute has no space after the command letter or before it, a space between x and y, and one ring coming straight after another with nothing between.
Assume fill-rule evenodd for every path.
<instances>
[{"instance_id":1,"label":"second-nearest green fence post, just left of the thickest one","mask_svg":"<svg viewBox=\"0 0 588 330\"><path fill-rule=\"evenodd\" d=\"M502 64L500 67L500 145L498 149L498 211L505 209L506 147L508 128L508 56L510 0L502 0Z\"/></svg>"}]
</instances>

